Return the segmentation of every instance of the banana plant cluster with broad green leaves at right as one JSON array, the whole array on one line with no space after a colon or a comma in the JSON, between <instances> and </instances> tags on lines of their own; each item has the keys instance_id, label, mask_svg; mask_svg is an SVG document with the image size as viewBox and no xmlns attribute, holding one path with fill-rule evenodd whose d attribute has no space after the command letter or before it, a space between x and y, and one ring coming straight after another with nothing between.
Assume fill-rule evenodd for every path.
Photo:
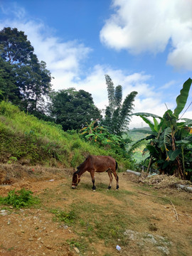
<instances>
[{"instance_id":1,"label":"banana plant cluster with broad green leaves at right","mask_svg":"<svg viewBox=\"0 0 192 256\"><path fill-rule=\"evenodd\" d=\"M178 115L186 105L191 82L191 78L184 82L180 95L176 98L177 106L174 112L167 110L163 117L149 113L135 113L151 128L151 136L145 138L150 139L149 144L146 145L151 156L149 165L156 162L161 172L188 179L192 177L192 120L179 119ZM152 117L154 122L148 117Z\"/></svg>"}]
</instances>

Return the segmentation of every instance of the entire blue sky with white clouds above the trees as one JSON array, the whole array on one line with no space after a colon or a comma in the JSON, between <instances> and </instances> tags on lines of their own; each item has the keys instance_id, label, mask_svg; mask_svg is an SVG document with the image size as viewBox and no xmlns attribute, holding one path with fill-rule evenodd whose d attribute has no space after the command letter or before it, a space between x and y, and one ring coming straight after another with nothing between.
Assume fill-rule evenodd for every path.
<instances>
[{"instance_id":1,"label":"entire blue sky with white clouds above the trees","mask_svg":"<svg viewBox=\"0 0 192 256\"><path fill-rule=\"evenodd\" d=\"M138 92L133 112L162 115L192 78L191 13L192 0L0 0L0 29L25 32L54 90L85 90L104 109L108 74L124 97Z\"/></svg>"}]
</instances>

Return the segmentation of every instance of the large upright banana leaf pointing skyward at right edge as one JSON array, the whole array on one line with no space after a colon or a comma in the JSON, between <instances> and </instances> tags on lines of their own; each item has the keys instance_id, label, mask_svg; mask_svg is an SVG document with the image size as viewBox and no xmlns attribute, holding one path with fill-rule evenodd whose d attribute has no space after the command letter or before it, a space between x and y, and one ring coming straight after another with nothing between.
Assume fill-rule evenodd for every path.
<instances>
[{"instance_id":1,"label":"large upright banana leaf pointing skyward at right edge","mask_svg":"<svg viewBox=\"0 0 192 256\"><path fill-rule=\"evenodd\" d=\"M174 114L176 115L177 118L186 105L188 92L191 87L191 82L192 82L191 78L188 78L188 80L186 80L186 82L183 83L183 88L180 91L180 95L178 95L178 97L176 98L177 106L176 106L176 109L174 110Z\"/></svg>"}]
</instances>

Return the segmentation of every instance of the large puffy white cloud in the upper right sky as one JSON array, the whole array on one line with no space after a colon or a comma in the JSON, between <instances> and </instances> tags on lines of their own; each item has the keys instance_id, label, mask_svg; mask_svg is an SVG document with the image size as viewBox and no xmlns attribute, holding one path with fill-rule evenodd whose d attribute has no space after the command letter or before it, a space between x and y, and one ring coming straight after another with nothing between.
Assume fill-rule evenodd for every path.
<instances>
[{"instance_id":1,"label":"large puffy white cloud in the upper right sky","mask_svg":"<svg viewBox=\"0 0 192 256\"><path fill-rule=\"evenodd\" d=\"M192 70L191 0L114 0L114 14L100 31L100 40L116 50L160 53L171 43L167 63Z\"/></svg>"}]
</instances>

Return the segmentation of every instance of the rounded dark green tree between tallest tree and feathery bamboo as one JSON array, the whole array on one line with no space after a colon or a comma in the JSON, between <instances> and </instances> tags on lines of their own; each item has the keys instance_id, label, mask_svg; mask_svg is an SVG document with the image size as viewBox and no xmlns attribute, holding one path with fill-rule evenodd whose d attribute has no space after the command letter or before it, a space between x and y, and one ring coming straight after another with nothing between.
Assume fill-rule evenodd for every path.
<instances>
[{"instance_id":1,"label":"rounded dark green tree between tallest tree and feathery bamboo","mask_svg":"<svg viewBox=\"0 0 192 256\"><path fill-rule=\"evenodd\" d=\"M82 129L86 123L102 117L90 93L75 88L52 93L50 115L64 131Z\"/></svg>"}]
</instances>

